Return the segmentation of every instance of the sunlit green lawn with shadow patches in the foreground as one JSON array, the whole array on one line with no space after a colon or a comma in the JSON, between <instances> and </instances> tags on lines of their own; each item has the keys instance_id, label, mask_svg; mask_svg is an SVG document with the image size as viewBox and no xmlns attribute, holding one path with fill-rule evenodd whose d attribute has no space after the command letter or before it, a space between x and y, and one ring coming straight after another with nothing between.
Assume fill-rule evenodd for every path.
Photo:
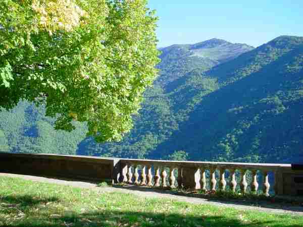
<instances>
[{"instance_id":1,"label":"sunlit green lawn with shadow patches in the foreground","mask_svg":"<svg viewBox=\"0 0 303 227\"><path fill-rule=\"evenodd\" d=\"M303 216L0 177L0 226L303 226Z\"/></svg>"}]
</instances>

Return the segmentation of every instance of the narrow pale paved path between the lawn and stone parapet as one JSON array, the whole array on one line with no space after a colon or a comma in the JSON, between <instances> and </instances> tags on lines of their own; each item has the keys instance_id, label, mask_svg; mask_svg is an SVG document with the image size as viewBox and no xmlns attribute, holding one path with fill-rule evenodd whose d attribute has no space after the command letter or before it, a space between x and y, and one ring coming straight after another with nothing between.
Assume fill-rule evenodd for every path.
<instances>
[{"instance_id":1,"label":"narrow pale paved path between the lawn and stone parapet","mask_svg":"<svg viewBox=\"0 0 303 227\"><path fill-rule=\"evenodd\" d=\"M138 196L146 197L146 198L167 198L174 199L183 202L189 202L194 204L211 204L216 206L223 207L233 207L241 210L259 210L265 212L274 212L274 213L288 213L288 214L299 214L303 215L303 206L290 206L276 203L268 203L268 202L259 202L258 204L251 204L246 201L219 201L219 200L209 200L205 198L196 198L184 195L175 195L171 191L163 191L156 190L147 187L138 187L138 186L113 186L113 187L97 187L94 183L82 182L82 181L74 181L74 180L59 180L54 178L45 178L45 177L35 177L35 176L27 176L27 175L16 175L16 174L4 174L0 173L0 177L18 177L25 180L31 180L35 182L44 182L44 183L52 183L52 184L60 184L60 185L69 185L73 187L85 188L85 189L93 189L99 190L102 192L122 192L122 193L132 193Z\"/></svg>"}]
</instances>

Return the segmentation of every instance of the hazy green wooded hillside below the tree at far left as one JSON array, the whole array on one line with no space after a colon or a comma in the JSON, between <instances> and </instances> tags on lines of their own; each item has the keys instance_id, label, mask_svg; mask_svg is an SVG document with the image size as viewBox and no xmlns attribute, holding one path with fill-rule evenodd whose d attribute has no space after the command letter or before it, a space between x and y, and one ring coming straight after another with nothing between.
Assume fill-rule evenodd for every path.
<instances>
[{"instance_id":1,"label":"hazy green wooded hillside below the tree at far left","mask_svg":"<svg viewBox=\"0 0 303 227\"><path fill-rule=\"evenodd\" d=\"M75 154L85 138L85 125L75 122L72 133L54 130L55 119L45 117L43 106L20 102L0 112L0 151Z\"/></svg>"}]
</instances>

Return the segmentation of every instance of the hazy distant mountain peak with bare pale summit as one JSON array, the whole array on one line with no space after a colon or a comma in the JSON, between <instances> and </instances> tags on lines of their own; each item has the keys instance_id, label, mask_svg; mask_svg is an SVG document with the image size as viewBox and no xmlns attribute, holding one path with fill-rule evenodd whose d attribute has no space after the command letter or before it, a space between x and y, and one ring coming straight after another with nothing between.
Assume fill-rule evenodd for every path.
<instances>
[{"instance_id":1,"label":"hazy distant mountain peak with bare pale summit","mask_svg":"<svg viewBox=\"0 0 303 227\"><path fill-rule=\"evenodd\" d=\"M242 53L254 49L242 43L231 43L212 38L195 44L174 44L161 48L161 63L157 66L161 75L157 83L169 84L193 69L203 71L237 58Z\"/></svg>"}]
</instances>

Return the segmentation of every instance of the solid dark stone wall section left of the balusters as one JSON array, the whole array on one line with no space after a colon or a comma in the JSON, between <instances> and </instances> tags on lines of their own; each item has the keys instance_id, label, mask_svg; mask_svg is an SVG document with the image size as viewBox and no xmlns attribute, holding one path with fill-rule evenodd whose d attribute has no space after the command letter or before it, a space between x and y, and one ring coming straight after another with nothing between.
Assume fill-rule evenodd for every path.
<instances>
[{"instance_id":1,"label":"solid dark stone wall section left of the balusters","mask_svg":"<svg viewBox=\"0 0 303 227\"><path fill-rule=\"evenodd\" d=\"M119 159L0 152L0 172L91 181L112 180Z\"/></svg>"}]
</instances>

